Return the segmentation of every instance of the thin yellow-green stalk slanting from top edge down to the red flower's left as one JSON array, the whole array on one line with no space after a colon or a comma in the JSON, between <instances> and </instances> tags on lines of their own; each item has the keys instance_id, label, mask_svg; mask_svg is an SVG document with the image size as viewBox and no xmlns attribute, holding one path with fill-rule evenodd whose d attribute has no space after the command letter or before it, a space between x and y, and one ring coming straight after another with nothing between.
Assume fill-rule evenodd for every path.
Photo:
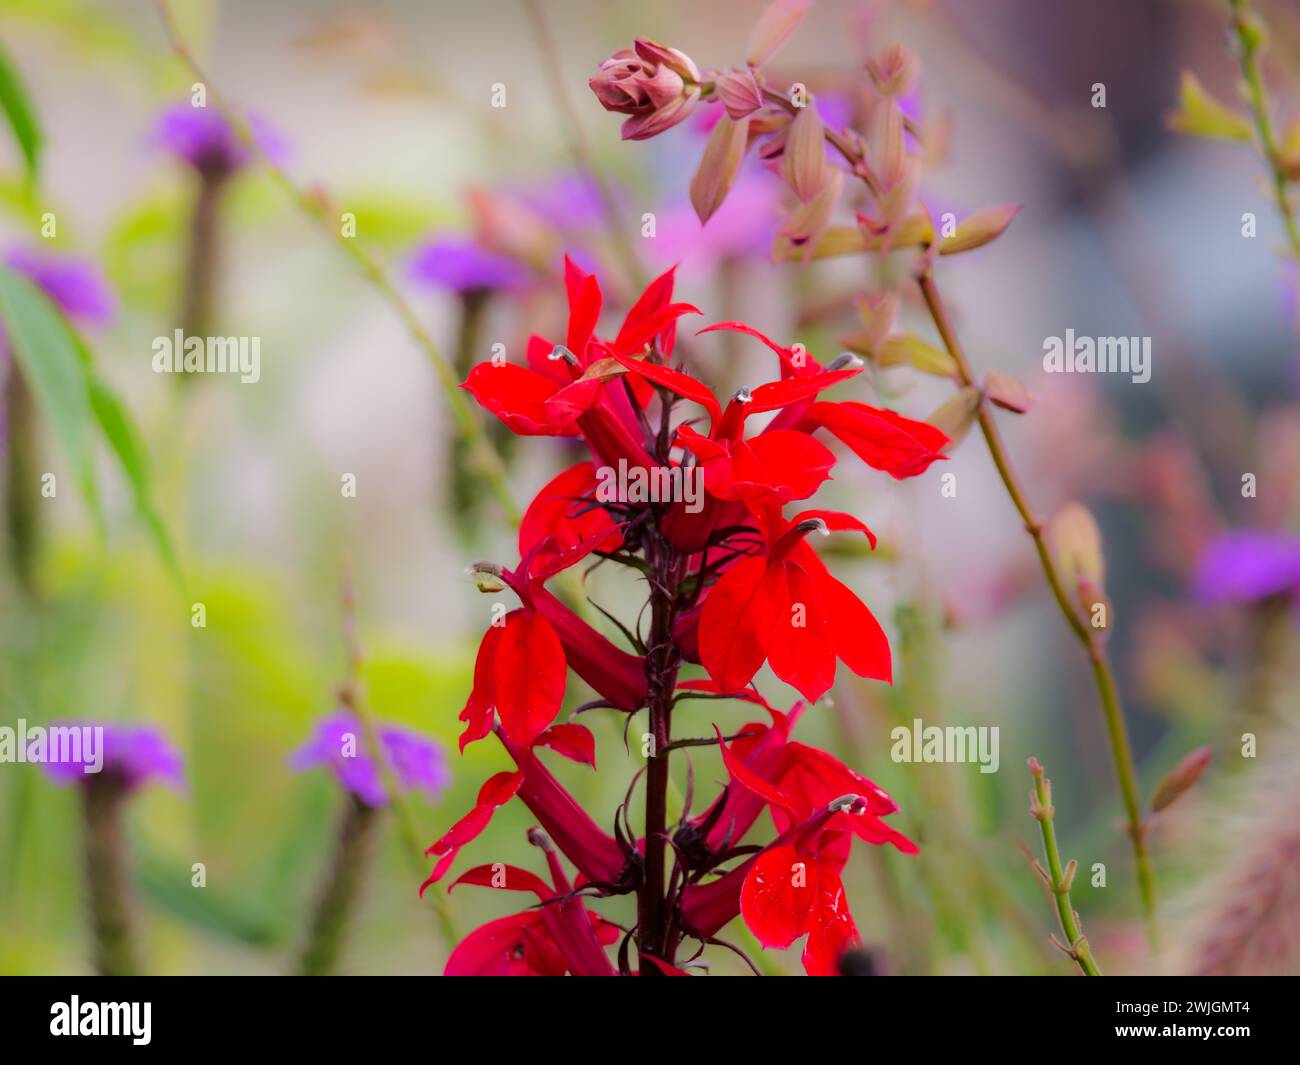
<instances>
[{"instance_id":1,"label":"thin yellow-green stalk slanting from top edge down to the red flower's left","mask_svg":"<svg viewBox=\"0 0 1300 1065\"><path fill-rule=\"evenodd\" d=\"M188 44L186 44L185 38L181 35L181 30L177 26L170 0L155 0L155 3L159 10L159 17L162 21L162 29L166 33L168 43L172 46L172 51L176 52L177 59L179 59L181 62L188 68L194 78L203 82L208 87L208 96L212 99L217 111L221 112L222 117L230 124L230 127L235 131L239 139L261 163L272 178L274 178L276 183L280 185L289 198L294 200L298 208L312 218L321 228L321 230L334 239L352 259L358 269L360 269L360 272L369 278L370 283L380 291L396 316L402 320L407 333L411 334L416 346L421 350L421 352L424 352L425 358L433 367L433 372L438 378L438 384L442 386L447 404L451 407L451 416L456 423L460 438L464 441L465 447L469 451L471 462L488 482L488 486L491 489L502 514L504 514L511 523L517 525L521 514L510 489L510 480L506 476L506 464L497 453L497 449L491 446L491 441L488 438L488 434L480 424L477 416L465 401L464 393L459 388L460 381L456 377L456 372L451 365L451 362L433 342L428 330L420 324L420 319L411 307L410 302L404 295L402 295L396 285L393 283L391 278L380 265L380 261L360 242L360 238L343 237L338 225L338 215L333 211L333 205L329 203L326 196L318 190L308 192L299 189L283 168L278 166L273 160L266 157L266 153L261 150L257 139L248 129L248 124L226 103L225 96L217 90L213 82L204 73L203 66L194 57L194 53L190 51Z\"/></svg>"}]
</instances>

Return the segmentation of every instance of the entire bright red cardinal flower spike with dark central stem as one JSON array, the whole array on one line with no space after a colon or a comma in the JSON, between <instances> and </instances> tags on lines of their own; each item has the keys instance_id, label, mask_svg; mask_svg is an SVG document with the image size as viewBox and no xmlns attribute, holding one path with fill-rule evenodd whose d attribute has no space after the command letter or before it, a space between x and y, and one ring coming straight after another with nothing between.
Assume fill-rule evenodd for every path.
<instances>
[{"instance_id":1,"label":"entire bright red cardinal flower spike with dark central stem","mask_svg":"<svg viewBox=\"0 0 1300 1065\"><path fill-rule=\"evenodd\" d=\"M811 532L858 532L875 546L871 531L848 514L802 510L785 518L783 508L814 495L831 475L836 459L815 438L822 429L894 477L926 469L941 458L946 438L889 411L823 399L861 364L823 367L738 322L712 328L759 338L777 354L781 373L723 403L671 365L676 324L696 312L672 302L672 270L647 286L612 339L597 335L602 296L595 277L566 260L564 280L564 343L533 337L526 367L476 367L465 381L515 432L581 436L592 460L556 473L533 498L515 568L473 567L503 583L519 606L500 611L480 644L460 715L462 748L491 732L515 769L490 778L473 809L429 849L438 861L424 888L446 876L459 852L514 798L546 832L533 841L546 852L550 882L502 863L462 876L458 884L528 892L538 905L472 932L447 973L685 975L682 938L716 943L736 917L764 947L805 939L807 971L833 973L858 939L841 882L853 839L904 853L916 848L885 822L897 809L888 795L826 752L790 739L806 702L783 713L749 687L764 663L805 700L835 683L841 661L861 676L890 677L880 625L806 540ZM682 420L680 401L698 411ZM746 436L749 417L759 414L771 416L766 428ZM621 485L624 463L629 475L646 475L644 484L670 489L685 480L663 475L698 469L702 507L696 506L701 497L685 489L680 498L664 498L662 488L610 498L607 467L619 468ZM629 567L650 589L650 609L640 615L606 614L630 650L546 588L592 555L592 568ZM701 662L708 676L680 680L684 662ZM630 722L646 709L653 735L666 744L650 756L651 771L633 778L612 817L589 814L542 762L552 757L542 753L549 749L593 770L597 765L592 731L559 720L569 668L599 694L580 710L614 709ZM670 826L668 758L680 757L671 710L690 694L758 703L767 720L746 724L729 744L718 732L729 784L703 813L688 810ZM640 819L629 815L638 782L646 796ZM755 835L764 808L776 837L770 832L766 845L755 845L746 837ZM637 821L645 827L634 828ZM612 824L614 835L602 824ZM559 854L577 870L576 886ZM593 897L633 892L637 925L627 932L586 909ZM620 935L615 967L606 948Z\"/></svg>"}]
</instances>

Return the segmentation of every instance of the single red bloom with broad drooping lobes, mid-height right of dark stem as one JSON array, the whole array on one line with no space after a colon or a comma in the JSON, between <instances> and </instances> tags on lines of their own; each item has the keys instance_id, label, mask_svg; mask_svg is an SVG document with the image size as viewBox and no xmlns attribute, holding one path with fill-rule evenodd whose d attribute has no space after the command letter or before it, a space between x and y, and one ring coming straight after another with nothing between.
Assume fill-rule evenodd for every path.
<instances>
[{"instance_id":1,"label":"single red bloom with broad drooping lobes, mid-height right of dark stem","mask_svg":"<svg viewBox=\"0 0 1300 1065\"><path fill-rule=\"evenodd\" d=\"M764 553L728 570L699 618L699 659L723 690L744 688L764 661L805 698L835 683L836 659L858 676L890 680L889 641L871 611L805 542L810 532L854 531L857 518L809 510L785 520L760 512Z\"/></svg>"}]
</instances>

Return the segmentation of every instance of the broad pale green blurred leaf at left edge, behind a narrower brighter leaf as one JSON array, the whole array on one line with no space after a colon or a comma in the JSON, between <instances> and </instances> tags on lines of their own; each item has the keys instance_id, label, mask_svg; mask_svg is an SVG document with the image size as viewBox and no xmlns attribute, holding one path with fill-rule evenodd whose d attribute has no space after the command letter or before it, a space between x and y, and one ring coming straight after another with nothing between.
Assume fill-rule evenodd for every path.
<instances>
[{"instance_id":1,"label":"broad pale green blurred leaf at left edge, behind a narrower brighter leaf","mask_svg":"<svg viewBox=\"0 0 1300 1065\"><path fill-rule=\"evenodd\" d=\"M94 414L77 338L49 296L10 267L0 267L0 319L36 407L99 521Z\"/></svg>"}]
</instances>

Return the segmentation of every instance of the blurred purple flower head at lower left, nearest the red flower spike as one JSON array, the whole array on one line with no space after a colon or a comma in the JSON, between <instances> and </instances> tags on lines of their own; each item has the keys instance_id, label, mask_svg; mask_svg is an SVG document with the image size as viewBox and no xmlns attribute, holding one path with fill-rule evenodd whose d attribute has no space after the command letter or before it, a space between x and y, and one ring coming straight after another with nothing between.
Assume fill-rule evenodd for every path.
<instances>
[{"instance_id":1,"label":"blurred purple flower head at lower left, nearest the red flower spike","mask_svg":"<svg viewBox=\"0 0 1300 1065\"><path fill-rule=\"evenodd\" d=\"M441 744L394 726L380 728L378 739L403 788L419 788L437 798L451 783L447 754ZM344 750L351 753L344 754ZM329 766L338 783L368 806L387 802L378 767L365 752L361 724L346 710L321 720L312 737L292 753L289 765L299 772Z\"/></svg>"}]
</instances>

